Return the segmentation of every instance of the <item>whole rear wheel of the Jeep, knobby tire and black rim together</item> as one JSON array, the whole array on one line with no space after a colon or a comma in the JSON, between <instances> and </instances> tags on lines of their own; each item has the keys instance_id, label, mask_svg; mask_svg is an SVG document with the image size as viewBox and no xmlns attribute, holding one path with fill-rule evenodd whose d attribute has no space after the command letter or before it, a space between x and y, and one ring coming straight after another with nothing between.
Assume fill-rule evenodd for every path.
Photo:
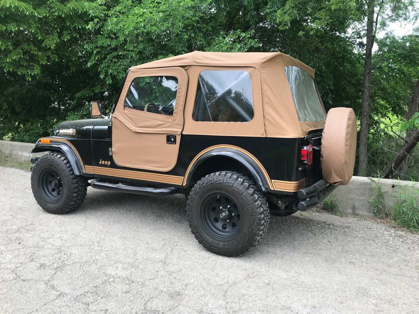
<instances>
[{"instance_id":1,"label":"whole rear wheel of the Jeep, knobby tire and black rim together","mask_svg":"<svg viewBox=\"0 0 419 314\"><path fill-rule=\"evenodd\" d=\"M266 234L269 208L250 178L231 171L214 172L194 185L186 210L198 242L218 255L238 256Z\"/></svg>"}]
</instances>

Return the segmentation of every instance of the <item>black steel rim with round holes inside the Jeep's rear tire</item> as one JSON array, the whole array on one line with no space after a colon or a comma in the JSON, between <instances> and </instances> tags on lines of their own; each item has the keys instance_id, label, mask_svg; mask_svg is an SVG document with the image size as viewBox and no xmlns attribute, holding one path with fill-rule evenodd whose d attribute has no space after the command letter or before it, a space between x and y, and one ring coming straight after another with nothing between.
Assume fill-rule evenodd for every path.
<instances>
[{"instance_id":1,"label":"black steel rim with round holes inside the Jeep's rear tire","mask_svg":"<svg viewBox=\"0 0 419 314\"><path fill-rule=\"evenodd\" d=\"M204 200L201 219L207 232L217 239L230 239L241 227L241 210L233 196L212 193Z\"/></svg>"}]
</instances>

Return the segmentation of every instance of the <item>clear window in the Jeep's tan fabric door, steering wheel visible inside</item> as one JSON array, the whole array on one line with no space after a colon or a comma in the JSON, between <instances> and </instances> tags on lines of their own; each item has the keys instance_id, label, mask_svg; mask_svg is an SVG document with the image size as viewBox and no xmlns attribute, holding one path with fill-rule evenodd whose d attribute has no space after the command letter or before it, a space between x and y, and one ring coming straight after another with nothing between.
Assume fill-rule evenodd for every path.
<instances>
[{"instance_id":1,"label":"clear window in the Jeep's tan fabric door, steering wheel visible inside","mask_svg":"<svg viewBox=\"0 0 419 314\"><path fill-rule=\"evenodd\" d=\"M174 76L136 77L129 86L124 107L173 116L178 79Z\"/></svg>"}]
</instances>

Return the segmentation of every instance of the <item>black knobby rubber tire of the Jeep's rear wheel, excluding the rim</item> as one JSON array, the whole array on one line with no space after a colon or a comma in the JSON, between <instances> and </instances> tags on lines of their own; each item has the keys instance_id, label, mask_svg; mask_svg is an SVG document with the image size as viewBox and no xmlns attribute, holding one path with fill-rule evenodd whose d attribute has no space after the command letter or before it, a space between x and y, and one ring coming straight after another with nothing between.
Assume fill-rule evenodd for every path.
<instances>
[{"instance_id":1,"label":"black knobby rubber tire of the Jeep's rear wheel, excluding the rim","mask_svg":"<svg viewBox=\"0 0 419 314\"><path fill-rule=\"evenodd\" d=\"M238 203L241 227L229 239L217 239L204 227L202 210L205 199L227 193ZM253 180L238 172L219 171L199 180L189 193L186 205L192 234L205 249L218 255L238 256L255 247L269 226L269 207L265 196Z\"/></svg>"}]
</instances>

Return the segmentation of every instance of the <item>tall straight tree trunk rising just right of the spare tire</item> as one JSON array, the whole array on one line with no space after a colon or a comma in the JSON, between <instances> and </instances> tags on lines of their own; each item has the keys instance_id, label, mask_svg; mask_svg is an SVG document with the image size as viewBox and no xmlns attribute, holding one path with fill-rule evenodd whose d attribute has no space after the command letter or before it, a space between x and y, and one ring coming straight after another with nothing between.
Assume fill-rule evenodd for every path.
<instances>
[{"instance_id":1,"label":"tall straight tree trunk rising just right of the spare tire","mask_svg":"<svg viewBox=\"0 0 419 314\"><path fill-rule=\"evenodd\" d=\"M372 46L374 45L374 13L375 0L370 0L368 3L367 13L367 44L365 46L365 61L364 61L364 83L362 93L362 108L361 108L361 126L360 126L360 145L358 175L363 176L367 171L367 144L368 144L368 124L370 118L370 90L371 90L371 62L372 62ZM378 13L377 13L378 18Z\"/></svg>"}]
</instances>

